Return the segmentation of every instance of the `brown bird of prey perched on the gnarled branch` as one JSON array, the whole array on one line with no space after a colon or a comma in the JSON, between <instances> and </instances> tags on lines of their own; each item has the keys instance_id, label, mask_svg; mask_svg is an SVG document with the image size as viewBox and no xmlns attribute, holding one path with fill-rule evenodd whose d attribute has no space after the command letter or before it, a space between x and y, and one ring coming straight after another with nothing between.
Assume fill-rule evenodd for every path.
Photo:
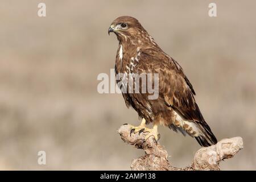
<instances>
[{"instance_id":1,"label":"brown bird of prey perched on the gnarled branch","mask_svg":"<svg viewBox=\"0 0 256 182\"><path fill-rule=\"evenodd\" d=\"M167 126L195 138L201 146L217 143L195 101L195 91L183 69L155 43L139 21L120 16L110 25L119 46L115 58L115 74L158 73L159 96L148 99L149 93L123 92L126 106L132 106L142 118L141 125L132 126L132 133L148 133L158 141L158 125ZM118 81L117 81L118 82ZM147 124L154 123L152 129Z\"/></svg>"}]
</instances>

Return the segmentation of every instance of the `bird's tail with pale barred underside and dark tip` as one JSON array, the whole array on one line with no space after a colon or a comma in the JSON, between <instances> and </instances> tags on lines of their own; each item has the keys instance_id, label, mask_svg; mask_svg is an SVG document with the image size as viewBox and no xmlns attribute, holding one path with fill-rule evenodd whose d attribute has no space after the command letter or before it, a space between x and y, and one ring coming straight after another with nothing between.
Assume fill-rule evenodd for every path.
<instances>
[{"instance_id":1,"label":"bird's tail with pale barred underside and dark tip","mask_svg":"<svg viewBox=\"0 0 256 182\"><path fill-rule=\"evenodd\" d=\"M177 123L176 123L177 124ZM200 146L208 147L217 143L217 139L210 130L210 127L207 123L204 122L192 122L192 121L183 121L179 122L178 125L172 123L169 125L169 128L174 131L180 131L184 136L188 134L191 137L194 137Z\"/></svg>"}]
</instances>

